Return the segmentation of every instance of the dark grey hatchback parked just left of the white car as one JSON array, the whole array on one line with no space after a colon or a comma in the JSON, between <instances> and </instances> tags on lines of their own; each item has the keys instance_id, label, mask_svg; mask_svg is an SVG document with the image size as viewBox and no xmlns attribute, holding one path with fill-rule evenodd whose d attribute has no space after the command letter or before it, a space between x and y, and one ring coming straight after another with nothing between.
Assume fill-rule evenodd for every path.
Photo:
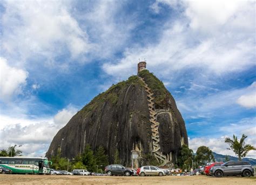
<instances>
[{"instance_id":1,"label":"dark grey hatchback parked just left of the white car","mask_svg":"<svg viewBox=\"0 0 256 185\"><path fill-rule=\"evenodd\" d=\"M133 171L129 168L125 168L122 165L109 165L109 166L105 167L105 173L108 176L111 176L111 175L130 176L133 174Z\"/></svg>"}]
</instances>

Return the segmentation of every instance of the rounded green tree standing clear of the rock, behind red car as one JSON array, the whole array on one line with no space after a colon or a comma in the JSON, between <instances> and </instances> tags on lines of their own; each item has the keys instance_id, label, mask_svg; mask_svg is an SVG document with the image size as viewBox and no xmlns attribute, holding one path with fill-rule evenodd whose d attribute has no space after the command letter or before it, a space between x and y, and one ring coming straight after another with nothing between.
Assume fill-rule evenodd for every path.
<instances>
[{"instance_id":1,"label":"rounded green tree standing clear of the rock, behind red car","mask_svg":"<svg viewBox=\"0 0 256 185\"><path fill-rule=\"evenodd\" d=\"M206 146L200 146L197 149L196 161L199 166L205 165L207 162L215 162L212 150Z\"/></svg>"}]
</instances>

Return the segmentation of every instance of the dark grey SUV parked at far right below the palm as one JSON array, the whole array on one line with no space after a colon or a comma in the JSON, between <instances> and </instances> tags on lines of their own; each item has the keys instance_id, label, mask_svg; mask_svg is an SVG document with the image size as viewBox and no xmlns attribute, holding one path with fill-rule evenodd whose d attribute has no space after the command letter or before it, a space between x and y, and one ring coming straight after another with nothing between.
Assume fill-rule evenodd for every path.
<instances>
[{"instance_id":1,"label":"dark grey SUV parked at far right below the palm","mask_svg":"<svg viewBox=\"0 0 256 185\"><path fill-rule=\"evenodd\" d=\"M210 173L215 177L241 175L250 177L254 174L253 166L245 161L228 161L220 166L210 169Z\"/></svg>"}]
</instances>

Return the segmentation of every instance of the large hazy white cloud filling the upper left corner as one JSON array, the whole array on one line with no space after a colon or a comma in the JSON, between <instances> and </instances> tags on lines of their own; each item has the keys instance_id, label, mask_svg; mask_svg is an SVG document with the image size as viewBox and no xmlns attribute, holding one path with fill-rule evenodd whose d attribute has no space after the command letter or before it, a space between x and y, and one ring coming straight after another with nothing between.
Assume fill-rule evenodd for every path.
<instances>
[{"instance_id":1,"label":"large hazy white cloud filling the upper left corner","mask_svg":"<svg viewBox=\"0 0 256 185\"><path fill-rule=\"evenodd\" d=\"M6 1L2 16L2 49L6 56L46 58L48 65L68 50L73 58L90 50L87 33L64 1ZM18 42L17 42L18 41ZM19 61L20 62L20 61Z\"/></svg>"}]
</instances>

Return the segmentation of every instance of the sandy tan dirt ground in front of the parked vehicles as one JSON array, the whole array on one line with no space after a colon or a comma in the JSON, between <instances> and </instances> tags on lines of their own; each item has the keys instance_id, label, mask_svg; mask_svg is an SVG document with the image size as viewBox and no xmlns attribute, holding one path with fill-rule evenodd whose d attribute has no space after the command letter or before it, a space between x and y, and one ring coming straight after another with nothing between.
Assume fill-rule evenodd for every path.
<instances>
[{"instance_id":1,"label":"sandy tan dirt ground in front of the parked vehicles","mask_svg":"<svg viewBox=\"0 0 256 185\"><path fill-rule=\"evenodd\" d=\"M3 175L0 184L256 184L256 177Z\"/></svg>"}]
</instances>

